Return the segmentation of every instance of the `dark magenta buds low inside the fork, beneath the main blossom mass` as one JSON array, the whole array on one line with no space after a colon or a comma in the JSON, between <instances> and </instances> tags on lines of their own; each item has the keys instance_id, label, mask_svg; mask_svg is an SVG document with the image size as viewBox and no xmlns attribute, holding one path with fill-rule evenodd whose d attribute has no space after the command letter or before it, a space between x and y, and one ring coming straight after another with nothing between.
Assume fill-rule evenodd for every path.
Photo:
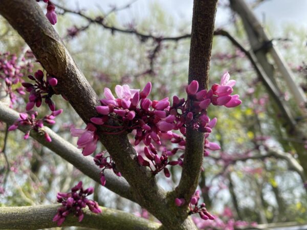
<instances>
[{"instance_id":1,"label":"dark magenta buds low inside the fork, beneath the main blossom mass","mask_svg":"<svg viewBox=\"0 0 307 230\"><path fill-rule=\"evenodd\" d=\"M159 156L155 146L153 146L151 143L149 145L149 148L147 146L144 147L144 155L148 160L144 159L143 156L139 153L138 162L142 166L149 167L153 175L156 175L163 170L164 175L166 177L170 177L170 172L166 168L166 166L174 166L179 164L179 160L168 159L168 154L166 150L162 152L161 156Z\"/></svg>"}]
</instances>

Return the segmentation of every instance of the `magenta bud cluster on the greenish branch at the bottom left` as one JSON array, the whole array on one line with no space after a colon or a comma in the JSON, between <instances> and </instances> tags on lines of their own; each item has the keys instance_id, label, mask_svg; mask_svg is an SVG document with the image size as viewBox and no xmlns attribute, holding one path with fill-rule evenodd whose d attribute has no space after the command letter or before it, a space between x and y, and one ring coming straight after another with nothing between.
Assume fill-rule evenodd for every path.
<instances>
[{"instance_id":1,"label":"magenta bud cluster on the greenish branch at the bottom left","mask_svg":"<svg viewBox=\"0 0 307 230\"><path fill-rule=\"evenodd\" d=\"M89 207L93 213L101 213L101 209L96 201L87 199L86 196L91 195L94 192L94 188L88 188L83 190L82 181L71 189L70 193L58 193L57 202L62 204L62 207L58 209L57 214L53 218L53 221L57 221L57 225L60 226L65 218L73 213L78 217L79 222L82 221L84 214L82 209Z\"/></svg>"}]
</instances>

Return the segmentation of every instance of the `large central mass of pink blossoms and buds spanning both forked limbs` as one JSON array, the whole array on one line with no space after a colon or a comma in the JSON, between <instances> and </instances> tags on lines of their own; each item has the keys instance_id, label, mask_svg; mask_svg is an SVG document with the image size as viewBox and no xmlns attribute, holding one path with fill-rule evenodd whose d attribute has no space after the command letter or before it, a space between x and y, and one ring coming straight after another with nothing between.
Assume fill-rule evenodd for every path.
<instances>
[{"instance_id":1,"label":"large central mass of pink blossoms and buds spanning both forked limbs","mask_svg":"<svg viewBox=\"0 0 307 230\"><path fill-rule=\"evenodd\" d=\"M137 146L144 143L145 159L138 154L139 164L149 167L153 174L164 170L169 177L167 165L182 165L183 157L178 160L168 160L168 156L184 150L186 129L192 128L205 133L204 155L208 150L218 150L220 146L209 142L207 137L216 124L216 118L210 120L207 116L207 108L213 105L226 107L238 106L241 101L238 95L231 95L235 80L229 80L228 73L224 74L220 84L214 84L210 90L200 90L199 83L192 81L187 87L187 99L173 97L172 105L168 98L160 101L150 100L148 95L151 91L151 83L148 82L142 91L130 89L128 85L116 85L114 97L109 88L104 88L104 99L101 105L96 107L99 117L91 118L95 125L102 126L108 134L118 134L124 131L134 132ZM95 151L98 136L94 125L87 124L86 129L72 129L73 136L78 136L78 148L83 148L83 155L89 155ZM116 125L113 125L116 124ZM183 136L172 132L179 130ZM162 145L161 141L169 140L179 147L172 150L165 149L159 156L153 144Z\"/></svg>"}]
</instances>

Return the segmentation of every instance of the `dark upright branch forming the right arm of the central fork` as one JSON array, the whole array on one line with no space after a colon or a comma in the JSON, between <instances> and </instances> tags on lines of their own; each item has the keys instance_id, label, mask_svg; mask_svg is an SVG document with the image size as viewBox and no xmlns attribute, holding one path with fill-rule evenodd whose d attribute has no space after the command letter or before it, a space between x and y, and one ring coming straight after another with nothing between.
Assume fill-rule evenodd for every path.
<instances>
[{"instance_id":1,"label":"dark upright branch forming the right arm of the central fork","mask_svg":"<svg viewBox=\"0 0 307 230\"><path fill-rule=\"evenodd\" d=\"M188 82L197 80L200 90L208 88L216 3L216 0L194 0ZM177 197L184 197L188 201L195 192L203 162L203 151L204 133L187 128L182 175L175 191Z\"/></svg>"}]
</instances>

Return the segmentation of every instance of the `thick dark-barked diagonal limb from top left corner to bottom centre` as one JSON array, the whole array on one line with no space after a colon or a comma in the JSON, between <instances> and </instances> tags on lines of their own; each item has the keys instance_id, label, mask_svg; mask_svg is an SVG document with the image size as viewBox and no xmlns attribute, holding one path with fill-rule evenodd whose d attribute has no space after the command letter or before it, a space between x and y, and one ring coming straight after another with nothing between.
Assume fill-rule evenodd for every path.
<instances>
[{"instance_id":1,"label":"thick dark-barked diagonal limb from top left corner to bottom centre","mask_svg":"<svg viewBox=\"0 0 307 230\"><path fill-rule=\"evenodd\" d=\"M65 49L36 1L0 0L0 4L0 14L25 39L45 70L57 78L58 84L54 88L57 93L68 99L85 123L92 117L97 117L96 106L99 99L94 89ZM156 216L167 229L195 229L186 214L179 214L174 200L167 203L166 192L157 185L152 173L138 164L136 151L129 143L126 133L112 135L100 130L99 139L143 208Z\"/></svg>"}]
</instances>

